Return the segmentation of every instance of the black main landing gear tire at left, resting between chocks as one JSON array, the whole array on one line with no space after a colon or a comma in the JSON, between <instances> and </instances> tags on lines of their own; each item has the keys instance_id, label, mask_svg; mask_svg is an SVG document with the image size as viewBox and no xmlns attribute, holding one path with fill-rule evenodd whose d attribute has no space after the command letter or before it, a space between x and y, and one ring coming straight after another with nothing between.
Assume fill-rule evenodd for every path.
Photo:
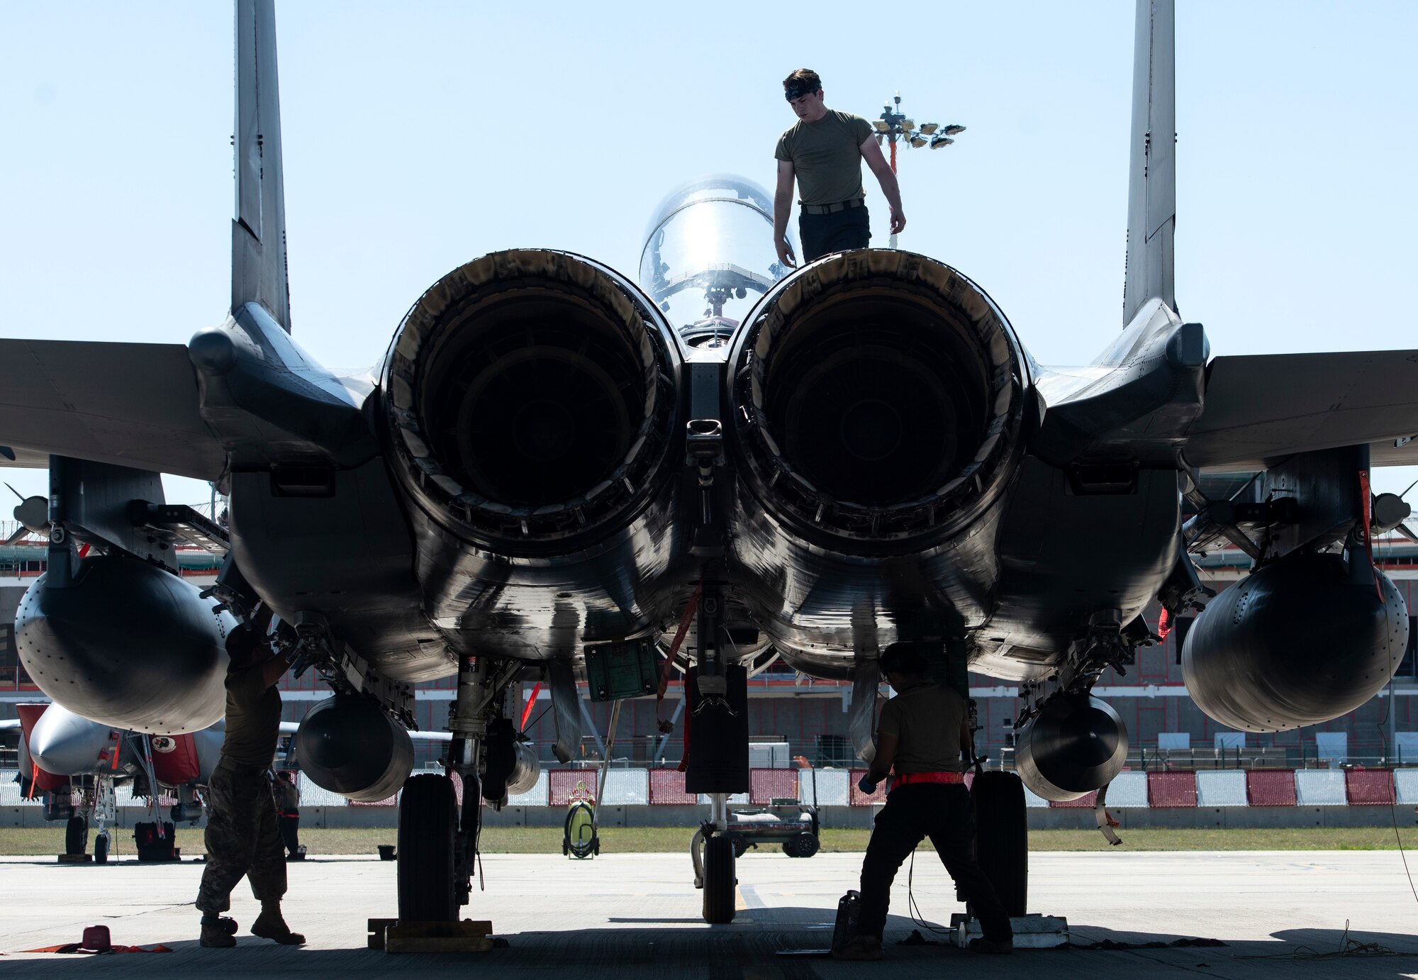
<instances>
[{"instance_id":1,"label":"black main landing gear tire at left, resting between chocks","mask_svg":"<svg viewBox=\"0 0 1418 980\"><path fill-rule=\"evenodd\" d=\"M458 920L452 869L457 814L447 776L425 773L404 783L398 798L400 922Z\"/></svg>"}]
</instances>

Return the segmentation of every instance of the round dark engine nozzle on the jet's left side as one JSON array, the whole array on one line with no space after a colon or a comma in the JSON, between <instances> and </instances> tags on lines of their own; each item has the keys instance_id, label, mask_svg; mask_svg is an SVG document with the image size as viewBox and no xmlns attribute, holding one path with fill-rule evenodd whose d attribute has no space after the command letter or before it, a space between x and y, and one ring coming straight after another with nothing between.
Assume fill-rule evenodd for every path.
<instances>
[{"instance_id":1,"label":"round dark engine nozzle on the jet's left side","mask_svg":"<svg viewBox=\"0 0 1418 980\"><path fill-rule=\"evenodd\" d=\"M515 547L614 526L664 475L675 347L610 268L519 250L450 272L386 369L394 455L427 508Z\"/></svg>"}]
</instances>

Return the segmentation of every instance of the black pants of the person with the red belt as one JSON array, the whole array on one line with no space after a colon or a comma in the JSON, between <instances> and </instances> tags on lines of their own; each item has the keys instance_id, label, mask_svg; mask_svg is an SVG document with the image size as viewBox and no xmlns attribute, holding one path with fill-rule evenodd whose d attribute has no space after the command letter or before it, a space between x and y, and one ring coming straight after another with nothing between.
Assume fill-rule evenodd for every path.
<instances>
[{"instance_id":1,"label":"black pants of the person with the red belt","mask_svg":"<svg viewBox=\"0 0 1418 980\"><path fill-rule=\"evenodd\" d=\"M1010 939L1010 916L994 893L994 885L974 859L970 793L964 786L932 783L892 790L886 806L876 814L872 840L862 861L862 909L856 932L881 939L891 905L891 884L902 861L925 837L936 845L940 862L980 918L986 939Z\"/></svg>"}]
</instances>

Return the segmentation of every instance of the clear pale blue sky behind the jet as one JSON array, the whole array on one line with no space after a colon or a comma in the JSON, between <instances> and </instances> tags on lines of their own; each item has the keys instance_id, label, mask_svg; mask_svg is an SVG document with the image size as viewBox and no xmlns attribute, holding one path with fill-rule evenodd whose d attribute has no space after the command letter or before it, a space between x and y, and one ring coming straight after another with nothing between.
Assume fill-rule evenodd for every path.
<instances>
[{"instance_id":1,"label":"clear pale blue sky behind the jet","mask_svg":"<svg viewBox=\"0 0 1418 980\"><path fill-rule=\"evenodd\" d=\"M1215 353L1418 347L1418 4L1180 7L1183 315ZM634 274L672 186L771 183L778 82L804 65L834 108L900 89L917 121L968 126L905 155L900 244L980 282L1035 357L1085 363L1122 326L1130 1L301 0L277 20L292 318L330 366L374 363L486 251ZM182 343L223 319L231 30L220 1L0 6L0 335Z\"/></svg>"}]
</instances>

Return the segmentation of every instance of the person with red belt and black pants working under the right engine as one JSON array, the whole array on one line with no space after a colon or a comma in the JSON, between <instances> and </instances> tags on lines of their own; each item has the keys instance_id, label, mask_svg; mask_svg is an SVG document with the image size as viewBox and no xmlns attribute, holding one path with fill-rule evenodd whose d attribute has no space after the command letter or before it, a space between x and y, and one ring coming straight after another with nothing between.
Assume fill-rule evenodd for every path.
<instances>
[{"instance_id":1,"label":"person with red belt and black pants working under the right engine","mask_svg":"<svg viewBox=\"0 0 1418 980\"><path fill-rule=\"evenodd\" d=\"M862 906L856 937L832 956L845 960L879 960L891 884L896 871L923 837L929 837L946 871L980 918L983 939L977 953L1014 949L1010 916L994 885L974 858L974 820L964 787L961 753L971 753L970 716L964 698L925 676L926 654L910 642L882 651L881 669L896 696L882 708L876 725L876 757L861 780L864 793L895 769L896 780L886 806L876 814L872 840L862 861Z\"/></svg>"}]
</instances>

